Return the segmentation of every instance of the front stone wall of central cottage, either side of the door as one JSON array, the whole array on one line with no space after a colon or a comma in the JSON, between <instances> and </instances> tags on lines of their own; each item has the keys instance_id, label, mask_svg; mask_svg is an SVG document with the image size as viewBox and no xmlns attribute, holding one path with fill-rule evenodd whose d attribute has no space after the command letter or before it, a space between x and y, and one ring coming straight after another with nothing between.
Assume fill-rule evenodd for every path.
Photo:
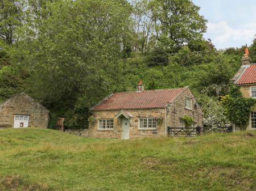
<instances>
[{"instance_id":1,"label":"front stone wall of central cottage, either side of the door","mask_svg":"<svg viewBox=\"0 0 256 191\"><path fill-rule=\"evenodd\" d=\"M141 138L141 137L159 137L164 135L164 121L162 124L158 124L156 129L139 129L138 118L157 117L165 115L165 109L134 109L127 110L133 118L130 123L130 138ZM115 118L121 111L94 111L96 122L89 125L89 137L97 138L116 138L120 139L122 136L122 118ZM111 118L114 120L114 128L108 130L98 129L98 120Z\"/></svg>"}]
</instances>

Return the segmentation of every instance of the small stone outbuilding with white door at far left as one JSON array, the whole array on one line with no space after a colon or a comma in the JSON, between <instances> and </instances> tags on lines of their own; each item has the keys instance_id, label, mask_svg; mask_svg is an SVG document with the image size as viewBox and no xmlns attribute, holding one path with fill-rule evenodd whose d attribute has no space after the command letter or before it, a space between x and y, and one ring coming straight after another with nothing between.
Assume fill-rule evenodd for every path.
<instances>
[{"instance_id":1,"label":"small stone outbuilding with white door at far left","mask_svg":"<svg viewBox=\"0 0 256 191\"><path fill-rule=\"evenodd\" d=\"M47 128L49 111L25 93L0 105L0 128Z\"/></svg>"}]
</instances>

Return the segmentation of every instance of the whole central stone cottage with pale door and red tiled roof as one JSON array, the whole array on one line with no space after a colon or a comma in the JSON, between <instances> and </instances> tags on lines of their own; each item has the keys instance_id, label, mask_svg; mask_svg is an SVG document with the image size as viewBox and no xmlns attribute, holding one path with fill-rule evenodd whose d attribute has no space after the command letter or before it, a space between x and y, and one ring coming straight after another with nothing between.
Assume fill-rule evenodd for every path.
<instances>
[{"instance_id":1,"label":"whole central stone cottage with pale door and red tiled roof","mask_svg":"<svg viewBox=\"0 0 256 191\"><path fill-rule=\"evenodd\" d=\"M184 116L192 126L203 125L203 113L188 87L147 90L140 81L137 91L111 94L94 106L89 137L130 139L167 136L167 127L184 127Z\"/></svg>"}]
</instances>

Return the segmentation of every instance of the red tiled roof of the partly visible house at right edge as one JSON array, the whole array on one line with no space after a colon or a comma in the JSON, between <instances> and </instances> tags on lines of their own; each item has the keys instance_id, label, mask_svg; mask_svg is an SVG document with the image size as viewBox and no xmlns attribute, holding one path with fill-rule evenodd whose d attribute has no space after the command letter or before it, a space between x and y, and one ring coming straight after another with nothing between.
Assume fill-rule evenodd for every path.
<instances>
[{"instance_id":1,"label":"red tiled roof of the partly visible house at right edge","mask_svg":"<svg viewBox=\"0 0 256 191\"><path fill-rule=\"evenodd\" d=\"M256 64L247 67L236 82L236 84L250 83L256 83Z\"/></svg>"}]
</instances>

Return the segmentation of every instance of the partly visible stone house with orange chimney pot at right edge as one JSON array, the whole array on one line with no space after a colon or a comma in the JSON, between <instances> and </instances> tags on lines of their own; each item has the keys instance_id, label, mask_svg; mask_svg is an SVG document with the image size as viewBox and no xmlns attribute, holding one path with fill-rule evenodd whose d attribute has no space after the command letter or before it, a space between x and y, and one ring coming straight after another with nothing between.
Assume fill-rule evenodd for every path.
<instances>
[{"instance_id":1,"label":"partly visible stone house with orange chimney pot at right edge","mask_svg":"<svg viewBox=\"0 0 256 191\"><path fill-rule=\"evenodd\" d=\"M244 97L256 99L256 63L251 63L248 48L245 49L245 54L242 57L242 66L232 78L232 82L240 87ZM250 113L250 121L246 129L256 130L256 105Z\"/></svg>"}]
</instances>

